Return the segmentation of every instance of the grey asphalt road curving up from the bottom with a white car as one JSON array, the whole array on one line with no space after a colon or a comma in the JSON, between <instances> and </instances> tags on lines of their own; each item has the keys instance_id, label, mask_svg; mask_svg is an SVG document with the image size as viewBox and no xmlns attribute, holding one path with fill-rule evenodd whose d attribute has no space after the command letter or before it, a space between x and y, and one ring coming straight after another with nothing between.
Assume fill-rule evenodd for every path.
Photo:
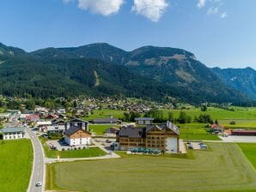
<instances>
[{"instance_id":1,"label":"grey asphalt road curving up from the bottom with a white car","mask_svg":"<svg viewBox=\"0 0 256 192\"><path fill-rule=\"evenodd\" d=\"M34 170L32 172L29 189L27 189L27 191L41 192L43 191L43 186L37 187L36 183L41 182L42 185L44 184L44 153L40 146L40 141L34 132L27 129L27 133L30 135L31 141L34 143Z\"/></svg>"}]
</instances>

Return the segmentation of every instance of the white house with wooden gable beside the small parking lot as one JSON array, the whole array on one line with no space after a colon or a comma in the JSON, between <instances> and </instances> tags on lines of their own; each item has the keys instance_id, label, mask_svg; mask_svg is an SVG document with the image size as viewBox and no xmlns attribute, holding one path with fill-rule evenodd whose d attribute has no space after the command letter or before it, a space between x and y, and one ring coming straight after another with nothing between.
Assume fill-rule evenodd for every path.
<instances>
[{"instance_id":1,"label":"white house with wooden gable beside the small parking lot","mask_svg":"<svg viewBox=\"0 0 256 192\"><path fill-rule=\"evenodd\" d=\"M64 132L64 141L70 146L90 145L91 135L86 130L72 125Z\"/></svg>"}]
</instances>

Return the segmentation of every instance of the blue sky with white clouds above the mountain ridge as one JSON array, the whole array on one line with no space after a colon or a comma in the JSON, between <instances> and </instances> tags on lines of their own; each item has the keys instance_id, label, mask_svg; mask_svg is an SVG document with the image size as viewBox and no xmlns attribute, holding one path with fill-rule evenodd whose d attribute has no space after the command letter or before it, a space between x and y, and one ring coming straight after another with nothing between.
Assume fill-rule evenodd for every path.
<instances>
[{"instance_id":1,"label":"blue sky with white clouds above the mountain ridge","mask_svg":"<svg viewBox=\"0 0 256 192\"><path fill-rule=\"evenodd\" d=\"M210 67L256 69L255 9L255 0L1 0L0 42L26 51L169 46Z\"/></svg>"}]
</instances>

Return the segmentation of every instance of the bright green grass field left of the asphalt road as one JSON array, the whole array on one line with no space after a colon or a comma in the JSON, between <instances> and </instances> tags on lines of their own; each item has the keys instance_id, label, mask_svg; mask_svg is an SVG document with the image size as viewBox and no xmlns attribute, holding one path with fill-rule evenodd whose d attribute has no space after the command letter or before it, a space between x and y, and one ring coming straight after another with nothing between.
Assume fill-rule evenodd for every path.
<instances>
[{"instance_id":1,"label":"bright green grass field left of the asphalt road","mask_svg":"<svg viewBox=\"0 0 256 192\"><path fill-rule=\"evenodd\" d=\"M0 141L0 191L27 191L32 165L29 140Z\"/></svg>"}]
</instances>

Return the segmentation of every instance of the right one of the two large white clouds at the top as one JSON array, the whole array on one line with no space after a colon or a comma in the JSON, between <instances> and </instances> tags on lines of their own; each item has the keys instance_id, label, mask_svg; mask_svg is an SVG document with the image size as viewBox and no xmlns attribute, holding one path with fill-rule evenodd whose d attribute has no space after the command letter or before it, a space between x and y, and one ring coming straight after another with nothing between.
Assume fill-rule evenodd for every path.
<instances>
[{"instance_id":1,"label":"right one of the two large white clouds at the top","mask_svg":"<svg viewBox=\"0 0 256 192\"><path fill-rule=\"evenodd\" d=\"M159 21L168 8L166 0L134 0L132 11L143 15L151 21Z\"/></svg>"}]
</instances>

